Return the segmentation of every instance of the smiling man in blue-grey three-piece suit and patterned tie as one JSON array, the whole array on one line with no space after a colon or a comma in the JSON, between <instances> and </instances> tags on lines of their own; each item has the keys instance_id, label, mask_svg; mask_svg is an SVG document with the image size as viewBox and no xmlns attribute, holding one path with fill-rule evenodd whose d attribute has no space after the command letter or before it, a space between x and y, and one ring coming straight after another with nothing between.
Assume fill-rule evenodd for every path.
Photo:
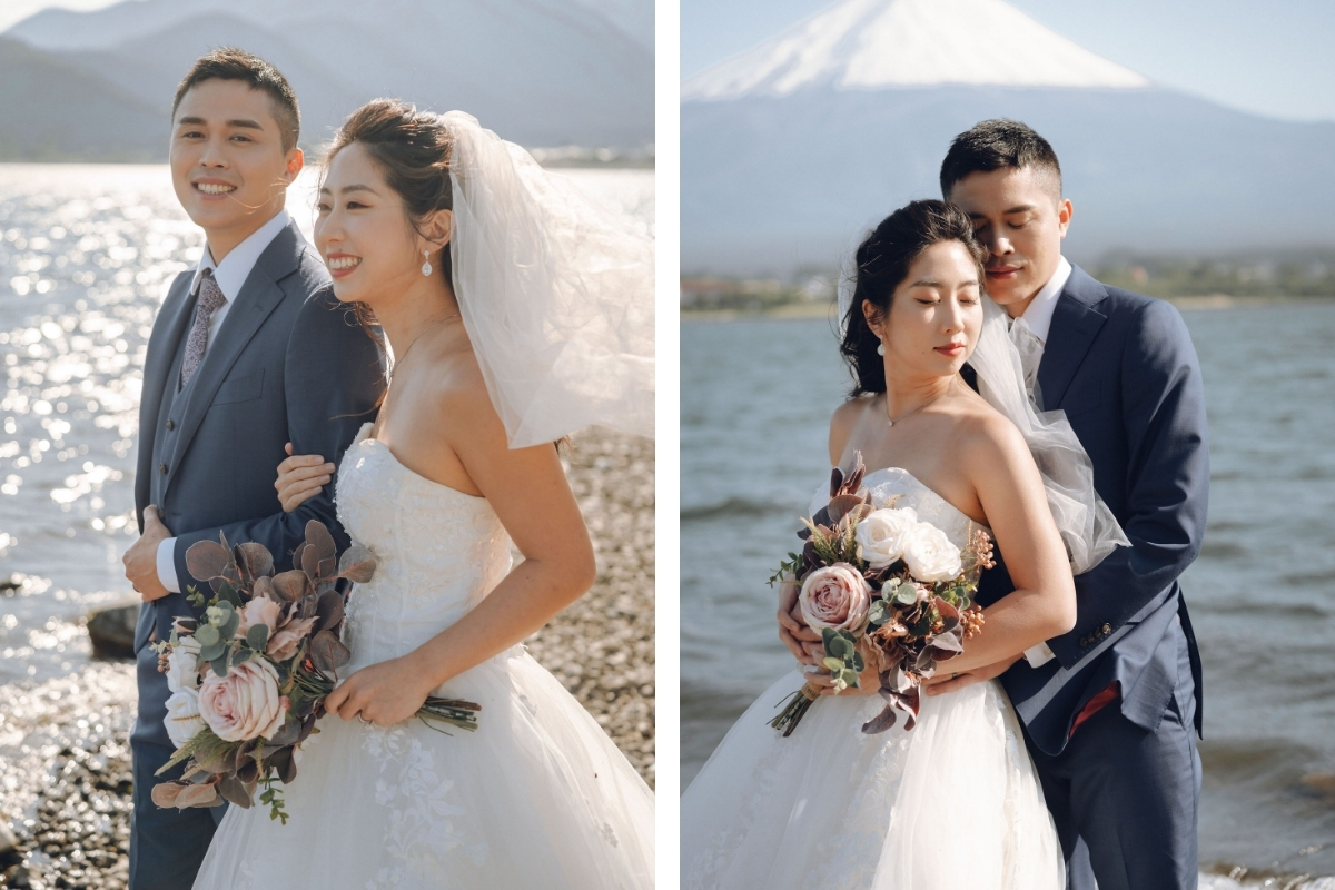
<instances>
[{"instance_id":1,"label":"smiling man in blue-grey three-piece suit and patterned tie","mask_svg":"<svg viewBox=\"0 0 1335 890\"><path fill-rule=\"evenodd\" d=\"M172 108L171 173L204 230L199 266L182 272L158 314L144 360L135 508L140 538L125 576L143 596L135 634L139 715L131 731L131 890L188 887L222 809L160 810L156 770L175 745L170 697L151 646L195 615L186 551L198 540L252 540L283 571L306 523L347 536L331 486L291 514L274 488L284 446L338 462L375 418L384 374L375 343L330 287L320 258L284 211L302 169L296 96L272 65L238 49L202 57Z\"/></svg>"}]
</instances>

